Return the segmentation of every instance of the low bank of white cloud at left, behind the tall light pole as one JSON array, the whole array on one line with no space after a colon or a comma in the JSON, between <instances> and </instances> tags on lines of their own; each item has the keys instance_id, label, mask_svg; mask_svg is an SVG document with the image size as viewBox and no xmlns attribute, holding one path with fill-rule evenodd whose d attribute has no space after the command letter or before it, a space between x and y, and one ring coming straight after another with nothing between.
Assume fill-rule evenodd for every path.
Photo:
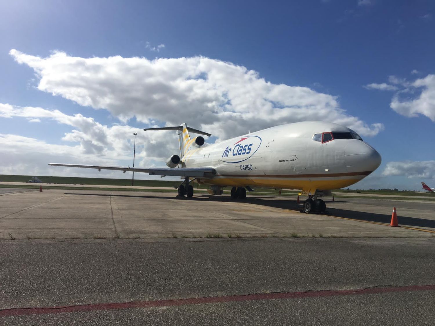
<instances>
[{"instance_id":1,"label":"low bank of white cloud at left, behind the tall light pole","mask_svg":"<svg viewBox=\"0 0 435 326\"><path fill-rule=\"evenodd\" d=\"M31 120L50 119L74 128L71 132L65 133L62 138L68 145L50 144L42 140L17 135L3 135L3 141L0 142L0 155L2 157L0 167L2 170L8 169L7 161L11 164L13 162L12 167L14 165L27 165L30 170L37 167L42 171L47 170L47 163L53 161L55 163L83 164L110 163L110 165L125 166L131 164L133 133L137 133L136 164L138 166L153 166L155 164L165 166L164 160L168 156L178 153L175 133L162 131L144 133L141 129L126 125L108 127L81 114L70 116L59 110L46 110L30 106L20 107L2 103L0 103L0 117L24 117ZM42 159L22 160L21 153L27 153L29 157L41 156ZM53 159L50 159L51 156L54 156ZM55 158L59 160L54 160ZM15 171L15 174L17 173ZM118 177L122 176L118 175Z\"/></svg>"}]
</instances>

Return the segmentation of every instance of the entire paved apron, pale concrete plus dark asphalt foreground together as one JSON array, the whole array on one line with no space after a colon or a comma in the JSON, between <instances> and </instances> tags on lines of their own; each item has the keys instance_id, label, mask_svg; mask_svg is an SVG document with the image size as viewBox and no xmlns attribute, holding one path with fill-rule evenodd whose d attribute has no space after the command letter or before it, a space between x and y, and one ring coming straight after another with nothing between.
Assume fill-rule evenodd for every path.
<instances>
[{"instance_id":1,"label":"entire paved apron, pale concrete plus dark asphalt foreground together","mask_svg":"<svg viewBox=\"0 0 435 326\"><path fill-rule=\"evenodd\" d=\"M432 202L7 191L0 325L435 323Z\"/></svg>"}]
</instances>

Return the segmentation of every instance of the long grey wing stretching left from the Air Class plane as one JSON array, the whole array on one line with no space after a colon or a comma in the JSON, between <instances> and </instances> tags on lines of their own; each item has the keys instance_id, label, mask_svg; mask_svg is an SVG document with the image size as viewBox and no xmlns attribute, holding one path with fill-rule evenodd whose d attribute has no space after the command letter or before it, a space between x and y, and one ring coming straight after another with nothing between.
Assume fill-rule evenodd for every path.
<instances>
[{"instance_id":1,"label":"long grey wing stretching left from the Air Class plane","mask_svg":"<svg viewBox=\"0 0 435 326\"><path fill-rule=\"evenodd\" d=\"M84 167L87 169L101 170L118 170L129 172L144 172L151 176L183 176L183 177L201 177L212 178L216 174L216 170L212 167L194 167L194 168L140 168L140 167L123 167L123 166L97 166L97 165L83 165L83 164L59 164L49 163L52 166L67 166L67 167Z\"/></svg>"}]
</instances>

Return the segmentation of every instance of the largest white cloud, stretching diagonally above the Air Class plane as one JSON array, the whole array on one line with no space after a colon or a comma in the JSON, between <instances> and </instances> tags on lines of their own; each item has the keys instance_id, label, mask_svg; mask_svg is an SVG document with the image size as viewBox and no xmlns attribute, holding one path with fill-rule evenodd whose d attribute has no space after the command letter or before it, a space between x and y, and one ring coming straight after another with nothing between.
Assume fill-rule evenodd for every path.
<instances>
[{"instance_id":1,"label":"largest white cloud, stretching diagonally above the Air Class plane","mask_svg":"<svg viewBox=\"0 0 435 326\"><path fill-rule=\"evenodd\" d=\"M340 123L363 136L383 130L381 123L368 125L348 115L336 96L273 84L253 70L205 57L80 58L55 52L40 58L17 50L10 55L35 70L39 90L107 109L124 123L132 117L187 122L219 139L302 120Z\"/></svg>"}]
</instances>

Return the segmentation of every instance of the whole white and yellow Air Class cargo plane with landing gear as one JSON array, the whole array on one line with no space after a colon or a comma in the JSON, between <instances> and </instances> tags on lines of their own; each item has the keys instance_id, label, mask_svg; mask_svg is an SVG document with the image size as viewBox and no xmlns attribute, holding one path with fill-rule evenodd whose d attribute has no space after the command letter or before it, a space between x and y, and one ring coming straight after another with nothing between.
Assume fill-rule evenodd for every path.
<instances>
[{"instance_id":1,"label":"whole white and yellow Air Class cargo plane with landing gear","mask_svg":"<svg viewBox=\"0 0 435 326\"><path fill-rule=\"evenodd\" d=\"M206 144L201 130L181 126L146 128L177 130L180 155L172 155L169 168L131 168L50 163L54 166L146 172L150 175L181 176L178 196L192 197L192 181L209 185L209 193L221 195L231 188L231 198L245 198L254 187L301 189L308 195L304 211L325 212L322 196L332 189L350 186L381 164L381 156L353 130L335 123L306 121L260 130L220 143Z\"/></svg>"}]
</instances>

